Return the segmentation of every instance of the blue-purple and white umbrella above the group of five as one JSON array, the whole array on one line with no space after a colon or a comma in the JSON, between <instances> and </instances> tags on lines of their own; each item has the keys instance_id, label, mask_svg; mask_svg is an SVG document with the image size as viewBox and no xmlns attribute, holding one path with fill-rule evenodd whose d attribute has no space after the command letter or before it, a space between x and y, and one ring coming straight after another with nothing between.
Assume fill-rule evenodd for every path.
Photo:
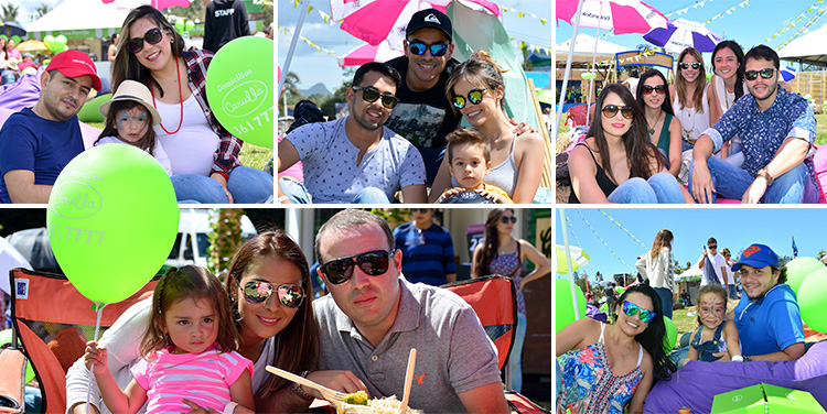
<instances>
[{"instance_id":1,"label":"blue-purple and white umbrella above the group of five","mask_svg":"<svg viewBox=\"0 0 827 414\"><path fill-rule=\"evenodd\" d=\"M685 19L676 19L667 23L666 28L655 28L643 35L647 42L662 46L667 53L680 53L687 47L695 47L702 53L711 53L722 40L707 29L704 23Z\"/></svg>"}]
</instances>

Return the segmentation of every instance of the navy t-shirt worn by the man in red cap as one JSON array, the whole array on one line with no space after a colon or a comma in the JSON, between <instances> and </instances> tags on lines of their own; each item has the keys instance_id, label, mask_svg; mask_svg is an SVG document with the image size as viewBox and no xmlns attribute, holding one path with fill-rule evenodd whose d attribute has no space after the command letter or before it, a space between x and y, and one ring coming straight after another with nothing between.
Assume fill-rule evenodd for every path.
<instances>
[{"instance_id":1,"label":"navy t-shirt worn by the man in red cap","mask_svg":"<svg viewBox=\"0 0 827 414\"><path fill-rule=\"evenodd\" d=\"M55 179L77 154L84 151L77 117L65 122L36 116L31 108L12 113L0 129L0 192L11 203L6 173L34 172L34 184L54 185Z\"/></svg>"}]
</instances>

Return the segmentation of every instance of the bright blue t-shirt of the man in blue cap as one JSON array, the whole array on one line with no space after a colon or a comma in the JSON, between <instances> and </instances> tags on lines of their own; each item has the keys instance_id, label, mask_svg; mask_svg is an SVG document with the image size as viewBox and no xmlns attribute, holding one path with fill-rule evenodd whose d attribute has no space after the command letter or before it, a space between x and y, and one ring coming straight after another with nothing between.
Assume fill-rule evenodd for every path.
<instances>
[{"instance_id":1,"label":"bright blue t-shirt of the man in blue cap","mask_svg":"<svg viewBox=\"0 0 827 414\"><path fill-rule=\"evenodd\" d=\"M735 326L743 355L766 355L804 342L804 327L795 293L781 283L758 302L745 294L735 306Z\"/></svg>"}]
</instances>

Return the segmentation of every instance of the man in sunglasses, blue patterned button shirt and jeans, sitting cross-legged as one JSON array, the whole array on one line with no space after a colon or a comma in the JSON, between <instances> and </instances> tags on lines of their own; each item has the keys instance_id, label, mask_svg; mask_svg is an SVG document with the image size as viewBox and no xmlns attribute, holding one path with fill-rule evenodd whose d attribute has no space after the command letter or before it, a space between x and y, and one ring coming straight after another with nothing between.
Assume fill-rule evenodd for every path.
<instances>
[{"instance_id":1,"label":"man in sunglasses, blue patterned button shirt and jeans, sitting cross-legged","mask_svg":"<svg viewBox=\"0 0 827 414\"><path fill-rule=\"evenodd\" d=\"M813 167L816 119L801 96L778 88L778 55L758 45L744 56L744 95L711 128L692 151L689 188L699 203L717 196L741 203L816 203ZM730 165L712 152L738 134L744 162Z\"/></svg>"}]
</instances>

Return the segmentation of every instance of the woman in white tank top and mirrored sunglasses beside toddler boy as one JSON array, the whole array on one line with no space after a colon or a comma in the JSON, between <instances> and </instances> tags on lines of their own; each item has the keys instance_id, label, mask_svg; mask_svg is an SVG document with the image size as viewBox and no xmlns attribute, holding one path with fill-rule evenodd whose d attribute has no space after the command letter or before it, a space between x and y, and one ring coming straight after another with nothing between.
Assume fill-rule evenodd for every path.
<instances>
[{"instance_id":1,"label":"woman in white tank top and mirrored sunglasses beside toddler boy","mask_svg":"<svg viewBox=\"0 0 827 414\"><path fill-rule=\"evenodd\" d=\"M540 185L545 143L536 132L514 133L514 124L503 111L504 88L502 72L485 51L474 52L468 61L457 65L445 85L454 110L480 130L491 146L493 167L484 182L505 190L514 203L531 203ZM440 165L429 195L431 203L449 186L454 186L449 162L451 160L445 159ZM451 192L445 196L454 194Z\"/></svg>"}]
</instances>

